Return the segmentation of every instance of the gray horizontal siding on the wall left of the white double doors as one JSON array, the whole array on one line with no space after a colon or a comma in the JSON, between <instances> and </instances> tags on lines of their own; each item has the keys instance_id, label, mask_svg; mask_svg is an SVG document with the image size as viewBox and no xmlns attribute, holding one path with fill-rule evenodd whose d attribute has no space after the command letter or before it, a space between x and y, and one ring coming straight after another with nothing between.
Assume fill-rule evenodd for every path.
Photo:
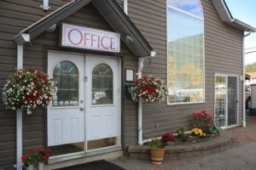
<instances>
[{"instance_id":1,"label":"gray horizontal siding on the wall left of the white double doors","mask_svg":"<svg viewBox=\"0 0 256 170\"><path fill-rule=\"evenodd\" d=\"M50 1L51 9L44 12L40 5L43 0L3 0L0 1L0 88L16 67L15 34L38 21L68 1ZM33 44L35 51L25 51L24 65L44 70L42 58L43 46ZM44 145L43 111L33 111L31 116L23 116L23 147L37 148ZM0 169L14 169L16 161L16 115L15 111L6 111L2 97L0 99Z\"/></svg>"}]
</instances>

